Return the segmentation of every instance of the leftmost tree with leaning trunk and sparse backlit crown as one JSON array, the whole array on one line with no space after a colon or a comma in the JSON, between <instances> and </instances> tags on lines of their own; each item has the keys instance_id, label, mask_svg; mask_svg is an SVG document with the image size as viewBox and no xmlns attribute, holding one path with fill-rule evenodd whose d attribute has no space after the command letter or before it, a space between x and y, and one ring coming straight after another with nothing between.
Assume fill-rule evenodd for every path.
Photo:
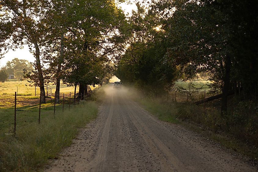
<instances>
[{"instance_id":1,"label":"leftmost tree with leaning trunk and sparse backlit crown","mask_svg":"<svg viewBox=\"0 0 258 172\"><path fill-rule=\"evenodd\" d=\"M41 19L48 5L47 0L0 1L0 44L2 54L9 49L34 46L41 102L45 103L44 78L40 61L40 47L45 35L45 24ZM8 40L8 41L7 41Z\"/></svg>"}]
</instances>

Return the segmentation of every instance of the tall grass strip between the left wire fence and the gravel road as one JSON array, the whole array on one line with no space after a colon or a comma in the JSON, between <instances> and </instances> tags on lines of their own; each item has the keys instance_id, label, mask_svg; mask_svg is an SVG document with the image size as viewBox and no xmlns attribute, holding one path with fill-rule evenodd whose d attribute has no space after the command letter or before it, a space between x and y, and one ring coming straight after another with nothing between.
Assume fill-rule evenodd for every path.
<instances>
[{"instance_id":1,"label":"tall grass strip between the left wire fence and the gravel road","mask_svg":"<svg viewBox=\"0 0 258 172\"><path fill-rule=\"evenodd\" d=\"M49 112L53 113L53 112ZM0 138L0 171L37 171L56 159L62 148L71 145L78 128L85 127L97 116L97 104L82 101L70 111L56 111L55 116L44 118L16 130L16 135Z\"/></svg>"}]
</instances>

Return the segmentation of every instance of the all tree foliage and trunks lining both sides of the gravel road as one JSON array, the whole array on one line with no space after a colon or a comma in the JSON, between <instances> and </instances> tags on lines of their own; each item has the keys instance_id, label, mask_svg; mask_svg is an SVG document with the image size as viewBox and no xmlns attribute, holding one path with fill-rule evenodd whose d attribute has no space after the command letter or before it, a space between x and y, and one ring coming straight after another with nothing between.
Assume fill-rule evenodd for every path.
<instances>
[{"instance_id":1,"label":"all tree foliage and trunks lining both sides of the gravel road","mask_svg":"<svg viewBox=\"0 0 258 172\"><path fill-rule=\"evenodd\" d=\"M56 83L57 97L60 79L79 85L80 93L101 84L113 69L111 59L115 75L152 95L169 91L179 78L208 74L213 93L223 93L222 115L230 90L256 98L258 2L153 0L136 6L126 18L113 0L1 1L2 53L31 47L36 70L26 76L40 86L42 102L44 82Z\"/></svg>"}]
</instances>

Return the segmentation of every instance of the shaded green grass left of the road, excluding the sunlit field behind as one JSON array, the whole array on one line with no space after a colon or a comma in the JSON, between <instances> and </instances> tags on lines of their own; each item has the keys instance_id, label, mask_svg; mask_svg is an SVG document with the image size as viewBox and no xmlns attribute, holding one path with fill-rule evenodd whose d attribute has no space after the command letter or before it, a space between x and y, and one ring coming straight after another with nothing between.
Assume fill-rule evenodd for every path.
<instances>
[{"instance_id":1,"label":"shaded green grass left of the road, excluding the sunlit field behind","mask_svg":"<svg viewBox=\"0 0 258 172\"><path fill-rule=\"evenodd\" d=\"M62 148L71 145L78 128L85 127L97 116L98 105L94 101L82 101L79 105L56 106L42 104L41 123L38 124L38 105L19 108L16 135L13 108L0 109L0 171L35 171L59 156Z\"/></svg>"}]
</instances>

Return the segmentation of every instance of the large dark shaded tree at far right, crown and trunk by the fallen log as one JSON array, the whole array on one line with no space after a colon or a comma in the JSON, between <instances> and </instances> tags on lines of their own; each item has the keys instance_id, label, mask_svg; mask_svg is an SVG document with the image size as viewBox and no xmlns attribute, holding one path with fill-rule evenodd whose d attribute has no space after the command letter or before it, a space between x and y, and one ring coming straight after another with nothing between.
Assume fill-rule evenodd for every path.
<instances>
[{"instance_id":1,"label":"large dark shaded tree at far right, crown and trunk by the fallen log","mask_svg":"<svg viewBox=\"0 0 258 172\"><path fill-rule=\"evenodd\" d=\"M202 72L213 74L211 80L217 83L213 86L219 86L223 94L221 115L225 115L234 82L240 79L250 86L257 78L257 70L250 66L257 64L257 3L202 0L175 1L174 5L164 26L170 40L166 58L188 78Z\"/></svg>"}]
</instances>

